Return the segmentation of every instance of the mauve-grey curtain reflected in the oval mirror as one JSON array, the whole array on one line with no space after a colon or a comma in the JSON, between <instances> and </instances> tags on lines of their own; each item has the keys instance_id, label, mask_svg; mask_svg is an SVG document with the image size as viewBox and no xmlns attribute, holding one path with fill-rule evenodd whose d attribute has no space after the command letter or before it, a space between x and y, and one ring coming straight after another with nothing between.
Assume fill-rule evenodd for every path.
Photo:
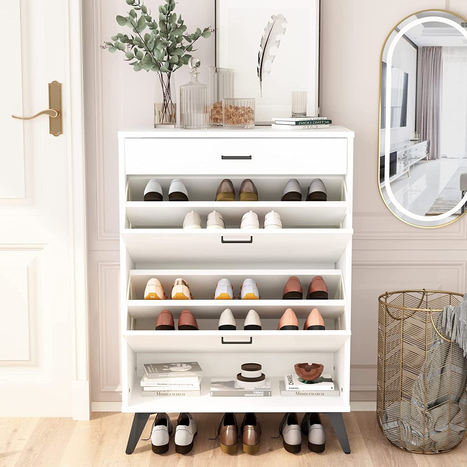
<instances>
[{"instance_id":1,"label":"mauve-grey curtain reflected in the oval mirror","mask_svg":"<svg viewBox=\"0 0 467 467\"><path fill-rule=\"evenodd\" d=\"M442 47L418 49L417 131L430 140L429 159L440 159Z\"/></svg>"}]
</instances>

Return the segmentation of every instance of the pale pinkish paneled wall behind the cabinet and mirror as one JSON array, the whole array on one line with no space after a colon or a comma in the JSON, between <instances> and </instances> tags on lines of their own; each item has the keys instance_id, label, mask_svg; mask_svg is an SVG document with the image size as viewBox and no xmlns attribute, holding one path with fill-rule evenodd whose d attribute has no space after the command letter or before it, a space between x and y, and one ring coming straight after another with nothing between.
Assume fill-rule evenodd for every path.
<instances>
[{"instance_id":1,"label":"pale pinkish paneled wall behind the cabinet and mirror","mask_svg":"<svg viewBox=\"0 0 467 467\"><path fill-rule=\"evenodd\" d=\"M84 4L92 400L112 401L120 399L116 134L121 127L151 123L155 78L134 73L117 55L99 50L119 30L114 17L125 11L124 0ZM148 0L153 8L158 4ZM356 136L354 399L375 399L378 295L401 288L466 289L465 218L441 229L411 227L388 211L378 191L381 46L403 17L430 7L467 16L466 0L322 1L321 112ZM189 28L214 25L214 0L179 0L177 9L186 12ZM214 39L201 42L197 53L212 64ZM178 78L187 81L186 71Z\"/></svg>"}]
</instances>

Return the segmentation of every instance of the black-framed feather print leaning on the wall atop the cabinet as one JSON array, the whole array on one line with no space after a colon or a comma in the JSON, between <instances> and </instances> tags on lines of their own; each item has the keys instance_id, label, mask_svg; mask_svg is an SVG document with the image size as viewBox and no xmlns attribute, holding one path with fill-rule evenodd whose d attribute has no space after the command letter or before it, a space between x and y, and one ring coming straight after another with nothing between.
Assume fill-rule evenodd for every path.
<instances>
[{"instance_id":1,"label":"black-framed feather print leaning on the wall atop the cabinet","mask_svg":"<svg viewBox=\"0 0 467 467\"><path fill-rule=\"evenodd\" d=\"M235 70L235 97L256 99L256 124L291 116L307 91L318 116L319 0L215 0L216 65Z\"/></svg>"}]
</instances>

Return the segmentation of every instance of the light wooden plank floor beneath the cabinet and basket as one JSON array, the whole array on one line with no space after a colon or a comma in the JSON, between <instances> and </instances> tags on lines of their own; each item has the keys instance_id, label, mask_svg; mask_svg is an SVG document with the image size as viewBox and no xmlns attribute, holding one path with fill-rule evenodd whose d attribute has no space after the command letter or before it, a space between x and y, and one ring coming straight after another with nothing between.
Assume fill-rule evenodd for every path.
<instances>
[{"instance_id":1,"label":"light wooden plank floor beneath the cabinet and basket","mask_svg":"<svg viewBox=\"0 0 467 467\"><path fill-rule=\"evenodd\" d=\"M243 415L243 414L242 414ZM300 414L301 415L301 414ZM240 414L237 414L241 417ZM250 456L238 451L229 456L219 449L219 440L211 441L217 432L219 414L196 414L198 436L188 455L175 453L171 439L168 453L159 456L151 451L150 441L140 441L132 455L125 454L131 414L96 412L91 422L70 418L0 418L0 467L230 467L230 466L391 466L391 467L457 467L467 465L467 443L450 453L438 455L410 454L390 445L382 436L375 412L345 414L352 453L340 449L326 417L326 450L310 453L306 439L299 454L287 453L278 435L282 414L258 414L262 425L260 452ZM176 415L172 414L172 419ZM153 420L150 417L149 421ZM239 420L239 423L241 419ZM148 438L150 423L142 438Z\"/></svg>"}]
</instances>

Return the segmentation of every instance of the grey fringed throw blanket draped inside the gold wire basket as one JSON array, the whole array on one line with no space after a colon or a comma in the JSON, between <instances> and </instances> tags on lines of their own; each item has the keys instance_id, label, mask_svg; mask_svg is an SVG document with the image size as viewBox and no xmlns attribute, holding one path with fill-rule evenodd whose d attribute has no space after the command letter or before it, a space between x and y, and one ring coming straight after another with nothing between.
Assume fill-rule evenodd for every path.
<instances>
[{"instance_id":1,"label":"grey fringed throw blanket draped inside the gold wire basket","mask_svg":"<svg viewBox=\"0 0 467 467\"><path fill-rule=\"evenodd\" d=\"M410 451L446 451L465 435L467 294L459 306L446 305L442 313L433 314L433 322L452 344L432 329L432 345L410 402L389 405L380 420L389 441Z\"/></svg>"}]
</instances>

